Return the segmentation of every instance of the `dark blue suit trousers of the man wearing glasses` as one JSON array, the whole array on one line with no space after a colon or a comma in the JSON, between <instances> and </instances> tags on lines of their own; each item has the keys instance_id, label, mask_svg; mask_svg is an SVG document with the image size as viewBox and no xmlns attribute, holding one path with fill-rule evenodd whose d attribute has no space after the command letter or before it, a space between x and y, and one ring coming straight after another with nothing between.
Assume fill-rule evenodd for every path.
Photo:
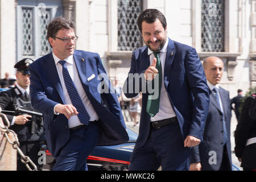
<instances>
[{"instance_id":1,"label":"dark blue suit trousers of the man wearing glasses","mask_svg":"<svg viewBox=\"0 0 256 182\"><path fill-rule=\"evenodd\" d=\"M61 148L53 171L86 171L86 159L98 143L99 127L97 122L71 130L68 142Z\"/></svg>"}]
</instances>

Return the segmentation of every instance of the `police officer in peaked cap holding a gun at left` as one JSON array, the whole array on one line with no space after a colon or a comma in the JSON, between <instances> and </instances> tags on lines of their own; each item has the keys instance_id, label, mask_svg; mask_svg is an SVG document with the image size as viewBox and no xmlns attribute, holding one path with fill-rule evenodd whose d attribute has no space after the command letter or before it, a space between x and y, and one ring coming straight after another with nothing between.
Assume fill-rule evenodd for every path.
<instances>
[{"instance_id":1,"label":"police officer in peaked cap holding a gun at left","mask_svg":"<svg viewBox=\"0 0 256 182\"><path fill-rule=\"evenodd\" d=\"M14 88L0 93L2 110L15 111L17 107L22 106L23 109L35 111L32 109L29 96L30 72L28 65L32 62L32 59L25 58L14 65L14 68L17 69L16 85ZM7 118L11 123L10 130L14 130L18 135L20 149L39 167L38 152L42 150L42 142L45 141L42 117L16 113L14 115L7 114ZM17 170L27 170L25 164L20 162L19 155L17 159Z\"/></svg>"}]
</instances>

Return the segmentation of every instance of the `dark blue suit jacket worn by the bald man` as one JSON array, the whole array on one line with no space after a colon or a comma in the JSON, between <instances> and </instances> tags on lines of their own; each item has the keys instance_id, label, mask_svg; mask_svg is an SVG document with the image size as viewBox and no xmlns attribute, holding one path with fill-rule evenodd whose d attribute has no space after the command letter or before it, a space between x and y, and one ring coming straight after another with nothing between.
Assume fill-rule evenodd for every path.
<instances>
[{"instance_id":1,"label":"dark blue suit jacket worn by the bald man","mask_svg":"<svg viewBox=\"0 0 256 182\"><path fill-rule=\"evenodd\" d=\"M210 92L210 104L209 111L207 115L207 122L205 123L205 129L203 138L204 141L199 144L199 146L192 147L191 154L191 163L200 162L202 166L202 170L209 171L214 170L217 171L220 168L222 162L223 155L223 125L222 125L222 115L224 114L226 121L226 129L228 132L228 142L226 142L226 147L228 151L228 158L231 164L231 144L230 144L230 119L231 119L231 109L230 109L230 98L229 92L225 89L219 89L222 106L224 109L224 113L222 113L220 106L218 105L216 99L214 98L213 93ZM216 153L212 153L214 151ZM210 152L210 153L209 153ZM216 158L215 156L216 155ZM213 163L216 159L216 163ZM209 163L210 160L210 163Z\"/></svg>"}]
</instances>

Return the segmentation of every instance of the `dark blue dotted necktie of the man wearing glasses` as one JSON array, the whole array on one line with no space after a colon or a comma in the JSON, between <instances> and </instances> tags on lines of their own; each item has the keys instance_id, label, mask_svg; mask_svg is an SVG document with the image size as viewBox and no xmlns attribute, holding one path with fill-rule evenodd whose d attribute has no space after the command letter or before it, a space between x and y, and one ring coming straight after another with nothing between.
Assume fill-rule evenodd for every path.
<instances>
[{"instance_id":1,"label":"dark blue dotted necktie of the man wearing glasses","mask_svg":"<svg viewBox=\"0 0 256 182\"><path fill-rule=\"evenodd\" d=\"M79 93L77 92L76 86L68 73L68 69L65 66L66 61L60 60L59 63L62 65L63 78L65 86L68 90L69 98L72 102L72 105L76 107L77 112L79 112L77 116L79 117L79 120L82 124L88 125L90 122L90 116L87 110L85 109L85 106L82 103Z\"/></svg>"}]
</instances>

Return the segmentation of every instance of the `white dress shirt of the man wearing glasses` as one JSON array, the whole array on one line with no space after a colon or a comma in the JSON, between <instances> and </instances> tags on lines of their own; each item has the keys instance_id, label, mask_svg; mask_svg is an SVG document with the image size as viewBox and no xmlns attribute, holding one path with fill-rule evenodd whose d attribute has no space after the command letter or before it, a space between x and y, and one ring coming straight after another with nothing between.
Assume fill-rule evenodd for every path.
<instances>
[{"instance_id":1,"label":"white dress shirt of the man wearing glasses","mask_svg":"<svg viewBox=\"0 0 256 182\"><path fill-rule=\"evenodd\" d=\"M63 96L64 96L64 100L65 100L64 104L65 105L72 104L72 102L69 98L69 95L68 95L68 90L65 86L65 82L64 82L64 78L63 78L63 74L62 74L62 66L59 63L59 61L61 59L59 59L57 56L55 56L53 52L52 52L52 55L53 55L53 59L55 61L57 72L58 72L58 75L60 78L60 83L63 88ZM68 69L69 75L71 76L71 79L73 80L73 82L76 86L77 92L79 93L82 103L84 104L88 114L90 115L90 121L98 120L98 115L97 115L96 111L93 109L93 106L90 103L90 101L84 91L84 88L82 88L82 84L81 84L81 81L79 78L79 73L77 72L77 68L76 68L75 60L73 59L73 55L67 57L67 59L65 59L65 61L66 61L65 66ZM69 128L76 127L79 125L82 125L82 123L80 122L77 115L73 115L70 119L68 119L68 127Z\"/></svg>"}]
</instances>

